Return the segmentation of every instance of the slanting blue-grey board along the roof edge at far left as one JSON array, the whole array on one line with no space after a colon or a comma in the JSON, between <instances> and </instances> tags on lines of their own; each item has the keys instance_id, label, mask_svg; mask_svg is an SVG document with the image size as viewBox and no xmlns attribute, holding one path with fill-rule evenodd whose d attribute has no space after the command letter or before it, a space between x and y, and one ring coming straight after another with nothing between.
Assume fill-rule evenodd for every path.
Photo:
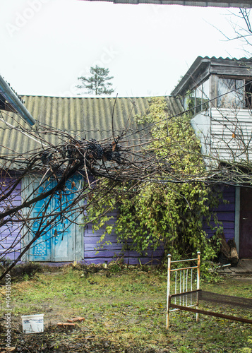
<instances>
[{"instance_id":1,"label":"slanting blue-grey board along the roof edge at far left","mask_svg":"<svg viewBox=\"0 0 252 353\"><path fill-rule=\"evenodd\" d=\"M28 112L28 109L25 108L23 103L20 101L15 92L11 89L11 87L6 83L6 80L0 76L0 94L5 97L11 107L13 107L13 112L19 114L25 122L32 126L36 124L35 119L33 119L32 115Z\"/></svg>"}]
</instances>

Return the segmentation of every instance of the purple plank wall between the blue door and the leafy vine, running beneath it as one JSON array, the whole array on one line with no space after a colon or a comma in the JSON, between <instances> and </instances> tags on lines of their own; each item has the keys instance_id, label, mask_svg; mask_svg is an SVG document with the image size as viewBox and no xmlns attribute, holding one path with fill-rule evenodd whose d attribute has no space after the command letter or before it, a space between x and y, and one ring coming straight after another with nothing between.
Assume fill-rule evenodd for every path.
<instances>
[{"instance_id":1,"label":"purple plank wall between the blue door and the leafy vine, running beneath it","mask_svg":"<svg viewBox=\"0 0 252 353\"><path fill-rule=\"evenodd\" d=\"M107 225L113 225L116 220L116 211L114 213L110 213L113 215L114 220L109 220L102 229L99 229L95 232L92 232L92 225L89 224L84 230L84 261L85 263L104 263L104 261L115 261L117 258L121 258L124 256L124 262L129 263L131 265L136 265L139 263L145 264L153 264L156 265L160 263L160 258L163 255L163 248L159 246L157 250L152 251L148 250L146 256L142 256L136 251L125 251L122 253L122 244L117 242L116 234L114 233L114 229L112 230L112 234L107 235L104 238L104 241L110 241L112 244L104 244L102 249L98 252L97 249L97 241L100 240L101 235L104 233L105 227Z\"/></svg>"}]
</instances>

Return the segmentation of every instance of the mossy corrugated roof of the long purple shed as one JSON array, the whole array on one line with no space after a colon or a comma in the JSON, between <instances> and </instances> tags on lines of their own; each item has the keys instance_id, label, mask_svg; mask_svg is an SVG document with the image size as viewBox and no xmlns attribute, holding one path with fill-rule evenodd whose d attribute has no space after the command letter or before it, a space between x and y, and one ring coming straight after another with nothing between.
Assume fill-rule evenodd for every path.
<instances>
[{"instance_id":1,"label":"mossy corrugated roof of the long purple shed","mask_svg":"<svg viewBox=\"0 0 252 353\"><path fill-rule=\"evenodd\" d=\"M183 112L179 100L174 97L166 97L170 115ZM123 128L128 128L128 136L133 141L146 140L148 129L137 132L140 126L136 125L134 116L146 114L149 108L150 97L141 98L66 98L66 97L42 97L42 96L23 96L25 107L32 114L36 121L54 127L59 130L67 131L78 138L95 138L102 140L112 138L112 112L114 107L114 136L121 133ZM116 104L114 106L116 100ZM4 123L4 120L12 126L20 126L20 122L14 121L15 114L0 114L0 138L1 155L4 153L28 152L40 148L41 143L34 137L28 137L24 133L15 130L12 126ZM25 125L23 125L25 126ZM37 126L37 124L36 124ZM25 126L27 128L27 125ZM35 130L35 128L33 128ZM52 143L56 142L56 136L50 134L48 139ZM59 141L58 141L59 142Z\"/></svg>"}]
</instances>

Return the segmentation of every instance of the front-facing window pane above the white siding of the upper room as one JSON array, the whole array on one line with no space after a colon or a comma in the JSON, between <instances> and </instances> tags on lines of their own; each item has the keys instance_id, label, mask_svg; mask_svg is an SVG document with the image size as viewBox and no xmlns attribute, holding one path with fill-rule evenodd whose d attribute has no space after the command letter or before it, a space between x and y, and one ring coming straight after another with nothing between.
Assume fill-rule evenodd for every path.
<instances>
[{"instance_id":1,"label":"front-facing window pane above the white siding of the upper room","mask_svg":"<svg viewBox=\"0 0 252 353\"><path fill-rule=\"evenodd\" d=\"M219 78L217 90L217 107L242 108L244 107L244 80Z\"/></svg>"}]
</instances>

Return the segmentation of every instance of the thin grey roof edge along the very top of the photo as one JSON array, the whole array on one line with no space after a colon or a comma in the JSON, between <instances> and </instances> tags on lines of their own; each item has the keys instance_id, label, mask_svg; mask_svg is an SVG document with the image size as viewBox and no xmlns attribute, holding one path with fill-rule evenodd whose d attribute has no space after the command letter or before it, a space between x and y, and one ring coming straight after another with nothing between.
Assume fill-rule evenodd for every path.
<instances>
[{"instance_id":1,"label":"thin grey roof edge along the very top of the photo","mask_svg":"<svg viewBox=\"0 0 252 353\"><path fill-rule=\"evenodd\" d=\"M84 0L87 1L87 0ZM238 1L176 1L176 0L89 0L89 1L109 1L114 4L157 4L157 5L182 5L182 6L201 6L201 7L238 7L251 8L252 1L244 0L241 3Z\"/></svg>"}]
</instances>

